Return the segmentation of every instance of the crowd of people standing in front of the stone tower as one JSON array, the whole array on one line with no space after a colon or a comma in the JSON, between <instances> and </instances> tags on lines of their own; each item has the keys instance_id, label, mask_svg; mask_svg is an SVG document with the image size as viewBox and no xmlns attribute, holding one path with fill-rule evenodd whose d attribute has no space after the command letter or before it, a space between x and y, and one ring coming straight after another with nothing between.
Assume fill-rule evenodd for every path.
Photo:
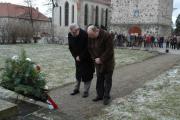
<instances>
[{"instance_id":1,"label":"crowd of people standing in front of the stone tower","mask_svg":"<svg viewBox=\"0 0 180 120\"><path fill-rule=\"evenodd\" d=\"M180 36L156 37L153 35L123 35L111 33L114 37L115 47L144 47L180 49Z\"/></svg>"}]
</instances>

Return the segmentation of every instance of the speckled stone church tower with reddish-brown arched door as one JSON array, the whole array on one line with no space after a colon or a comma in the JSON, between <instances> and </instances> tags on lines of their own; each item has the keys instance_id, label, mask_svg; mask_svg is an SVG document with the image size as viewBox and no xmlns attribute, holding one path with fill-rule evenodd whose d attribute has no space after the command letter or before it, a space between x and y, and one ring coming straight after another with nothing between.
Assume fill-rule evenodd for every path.
<instances>
[{"instance_id":1,"label":"speckled stone church tower with reddish-brown arched door","mask_svg":"<svg viewBox=\"0 0 180 120\"><path fill-rule=\"evenodd\" d=\"M111 0L111 29L125 35L171 34L173 0Z\"/></svg>"}]
</instances>

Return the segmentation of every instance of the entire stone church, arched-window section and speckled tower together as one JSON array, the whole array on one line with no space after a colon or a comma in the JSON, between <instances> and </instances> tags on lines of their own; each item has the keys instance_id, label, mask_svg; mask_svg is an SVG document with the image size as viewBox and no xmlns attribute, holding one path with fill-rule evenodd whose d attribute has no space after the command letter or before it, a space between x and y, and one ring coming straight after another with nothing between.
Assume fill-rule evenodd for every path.
<instances>
[{"instance_id":1,"label":"entire stone church, arched-window section and speckled tower together","mask_svg":"<svg viewBox=\"0 0 180 120\"><path fill-rule=\"evenodd\" d=\"M171 33L173 0L57 0L54 28L57 36L67 36L68 26L78 23L105 26L122 34Z\"/></svg>"}]
</instances>

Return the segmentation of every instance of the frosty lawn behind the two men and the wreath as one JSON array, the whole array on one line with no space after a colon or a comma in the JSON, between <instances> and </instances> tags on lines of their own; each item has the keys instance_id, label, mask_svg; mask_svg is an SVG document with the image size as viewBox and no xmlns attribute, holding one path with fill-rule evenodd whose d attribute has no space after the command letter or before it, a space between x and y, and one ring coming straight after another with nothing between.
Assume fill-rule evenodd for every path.
<instances>
[{"instance_id":1,"label":"frosty lawn behind the two men and the wreath","mask_svg":"<svg viewBox=\"0 0 180 120\"><path fill-rule=\"evenodd\" d=\"M6 58L18 55L25 49L27 56L42 66L47 74L49 88L55 88L75 81L74 60L68 46L52 44L0 45L0 71ZM116 67L140 62L155 54L146 51L116 49Z\"/></svg>"}]
</instances>

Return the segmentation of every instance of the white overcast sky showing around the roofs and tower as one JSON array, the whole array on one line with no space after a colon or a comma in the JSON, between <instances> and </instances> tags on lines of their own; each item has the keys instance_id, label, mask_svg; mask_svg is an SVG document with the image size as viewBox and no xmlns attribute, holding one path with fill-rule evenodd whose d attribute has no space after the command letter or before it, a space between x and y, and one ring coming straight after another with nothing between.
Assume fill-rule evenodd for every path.
<instances>
[{"instance_id":1,"label":"white overcast sky showing around the roofs and tower","mask_svg":"<svg viewBox=\"0 0 180 120\"><path fill-rule=\"evenodd\" d=\"M48 17L51 16L51 14L49 14L47 12L47 10L48 10L47 5L45 5L45 4L47 4L48 0L33 0L33 1L34 1L34 7L38 7L39 11L42 12L43 14L47 15ZM0 2L8 2L8 3L26 5L24 3L24 0L0 0ZM177 8L177 9L174 10L174 12L173 12L173 17L172 17L173 22L175 22L178 14L180 14L180 0L174 0L174 8Z\"/></svg>"}]
</instances>

